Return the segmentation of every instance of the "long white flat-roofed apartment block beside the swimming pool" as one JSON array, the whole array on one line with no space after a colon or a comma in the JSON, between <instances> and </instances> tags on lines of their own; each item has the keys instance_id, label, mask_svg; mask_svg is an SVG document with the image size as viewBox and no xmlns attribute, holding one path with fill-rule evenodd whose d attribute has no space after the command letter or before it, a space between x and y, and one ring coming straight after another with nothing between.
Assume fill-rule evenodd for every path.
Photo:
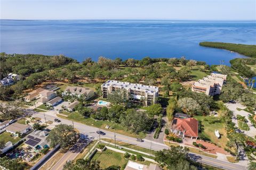
<instances>
[{"instance_id":1,"label":"long white flat-roofed apartment block beside the swimming pool","mask_svg":"<svg viewBox=\"0 0 256 170\"><path fill-rule=\"evenodd\" d=\"M143 104L144 106L150 106L156 103L158 97L158 87L119 82L116 80L108 80L101 85L101 90L103 98L108 98L109 94L113 91L120 90L126 92L133 103Z\"/></svg>"}]
</instances>

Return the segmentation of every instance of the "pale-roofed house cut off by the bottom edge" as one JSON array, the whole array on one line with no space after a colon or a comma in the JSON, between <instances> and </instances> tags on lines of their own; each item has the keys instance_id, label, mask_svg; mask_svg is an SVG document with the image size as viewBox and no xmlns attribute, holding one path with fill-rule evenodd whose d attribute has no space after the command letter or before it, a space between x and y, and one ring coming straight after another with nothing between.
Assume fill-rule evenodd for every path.
<instances>
[{"instance_id":1,"label":"pale-roofed house cut off by the bottom edge","mask_svg":"<svg viewBox=\"0 0 256 170\"><path fill-rule=\"evenodd\" d=\"M162 168L156 164L150 164L148 166L129 160L124 170L162 170Z\"/></svg>"}]
</instances>

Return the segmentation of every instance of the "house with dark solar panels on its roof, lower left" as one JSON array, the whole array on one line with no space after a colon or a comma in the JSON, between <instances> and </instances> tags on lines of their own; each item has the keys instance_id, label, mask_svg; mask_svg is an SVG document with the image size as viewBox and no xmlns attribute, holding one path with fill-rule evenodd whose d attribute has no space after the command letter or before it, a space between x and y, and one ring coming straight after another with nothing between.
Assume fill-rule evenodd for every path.
<instances>
[{"instance_id":1,"label":"house with dark solar panels on its roof, lower left","mask_svg":"<svg viewBox=\"0 0 256 170\"><path fill-rule=\"evenodd\" d=\"M46 136L49 132L46 131L33 131L28 136L26 136L25 144L29 145L32 148L43 149L49 146L49 143L46 141Z\"/></svg>"}]
</instances>

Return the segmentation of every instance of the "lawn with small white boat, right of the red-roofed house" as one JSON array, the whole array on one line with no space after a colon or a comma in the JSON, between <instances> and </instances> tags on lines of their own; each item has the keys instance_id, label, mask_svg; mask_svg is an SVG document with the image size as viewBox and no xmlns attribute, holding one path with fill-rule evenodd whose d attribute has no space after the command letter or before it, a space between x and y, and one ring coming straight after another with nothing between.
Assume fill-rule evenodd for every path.
<instances>
[{"instance_id":1,"label":"lawn with small white boat, right of the red-roofed house","mask_svg":"<svg viewBox=\"0 0 256 170\"><path fill-rule=\"evenodd\" d=\"M225 148L226 144L228 142L227 139L227 133L226 133L226 129L225 129L225 124L223 123L214 123L214 124L209 124L209 122L205 121L204 119L211 119L214 117L211 116L194 116L194 118L196 118L197 120L201 120L202 125L203 125L203 132L202 134L204 134L207 138L209 138L213 143L218 144L221 148ZM221 135L220 139L218 139L215 136L215 129L217 129Z\"/></svg>"}]
</instances>

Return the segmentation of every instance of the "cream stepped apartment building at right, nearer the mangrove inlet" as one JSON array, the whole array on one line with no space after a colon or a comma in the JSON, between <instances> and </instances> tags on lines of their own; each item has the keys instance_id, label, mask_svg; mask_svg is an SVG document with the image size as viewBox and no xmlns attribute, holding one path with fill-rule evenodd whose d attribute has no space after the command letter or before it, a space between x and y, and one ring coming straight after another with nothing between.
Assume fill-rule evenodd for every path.
<instances>
[{"instance_id":1,"label":"cream stepped apartment building at right, nearer the mangrove inlet","mask_svg":"<svg viewBox=\"0 0 256 170\"><path fill-rule=\"evenodd\" d=\"M227 75L212 73L210 76L199 79L192 85L193 92L201 92L207 95L221 93L222 85L226 82Z\"/></svg>"}]
</instances>

